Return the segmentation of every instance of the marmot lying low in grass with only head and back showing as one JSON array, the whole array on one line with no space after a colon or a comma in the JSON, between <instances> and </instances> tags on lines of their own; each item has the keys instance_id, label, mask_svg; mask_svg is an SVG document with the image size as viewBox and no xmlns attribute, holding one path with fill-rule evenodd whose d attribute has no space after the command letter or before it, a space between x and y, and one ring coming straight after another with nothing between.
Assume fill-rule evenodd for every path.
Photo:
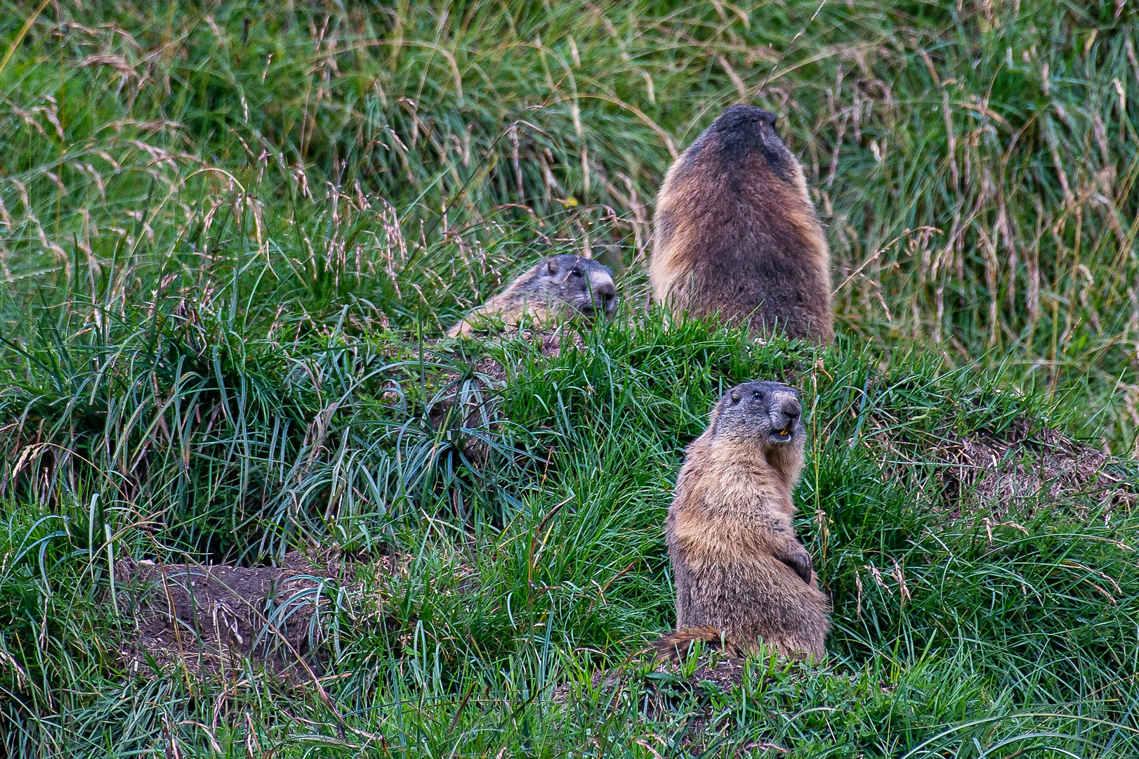
<instances>
[{"instance_id":1,"label":"marmot lying low in grass with only head and back showing","mask_svg":"<svg viewBox=\"0 0 1139 759\"><path fill-rule=\"evenodd\" d=\"M534 326L574 312L590 318L604 313L607 319L613 316L616 303L617 291L608 267L580 255L551 255L470 311L446 330L446 336L468 336L485 317L497 317L511 326L524 316L530 317Z\"/></svg>"}]
</instances>

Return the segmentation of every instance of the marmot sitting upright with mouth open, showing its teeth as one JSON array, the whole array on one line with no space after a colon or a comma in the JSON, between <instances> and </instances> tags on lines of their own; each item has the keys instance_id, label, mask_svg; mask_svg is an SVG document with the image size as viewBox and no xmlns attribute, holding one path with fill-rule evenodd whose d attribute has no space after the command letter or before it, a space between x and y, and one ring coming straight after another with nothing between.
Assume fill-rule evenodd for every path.
<instances>
[{"instance_id":1,"label":"marmot sitting upright with mouth open, showing its teeth","mask_svg":"<svg viewBox=\"0 0 1139 759\"><path fill-rule=\"evenodd\" d=\"M795 538L790 493L803 466L800 393L777 382L726 392L685 451L665 527L677 585L677 631L658 650L691 640L822 659L830 602Z\"/></svg>"}]
</instances>

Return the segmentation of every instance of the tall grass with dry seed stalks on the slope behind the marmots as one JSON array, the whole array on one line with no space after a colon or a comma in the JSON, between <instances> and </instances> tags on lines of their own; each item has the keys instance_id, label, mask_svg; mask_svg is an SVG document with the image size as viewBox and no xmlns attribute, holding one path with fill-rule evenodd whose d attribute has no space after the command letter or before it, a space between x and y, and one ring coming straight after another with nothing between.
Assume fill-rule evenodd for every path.
<instances>
[{"instance_id":1,"label":"tall grass with dry seed stalks on the slope behind the marmots","mask_svg":"<svg viewBox=\"0 0 1139 759\"><path fill-rule=\"evenodd\" d=\"M3 72L17 303L47 272L142 286L268 259L311 308L449 317L499 283L490 240L642 261L667 163L746 100L806 165L847 332L1007 353L1087 387L1132 446L1125 3L66 8ZM28 14L6 14L13 42ZM367 255L396 228L411 260L439 251L412 277L428 301Z\"/></svg>"}]
</instances>

